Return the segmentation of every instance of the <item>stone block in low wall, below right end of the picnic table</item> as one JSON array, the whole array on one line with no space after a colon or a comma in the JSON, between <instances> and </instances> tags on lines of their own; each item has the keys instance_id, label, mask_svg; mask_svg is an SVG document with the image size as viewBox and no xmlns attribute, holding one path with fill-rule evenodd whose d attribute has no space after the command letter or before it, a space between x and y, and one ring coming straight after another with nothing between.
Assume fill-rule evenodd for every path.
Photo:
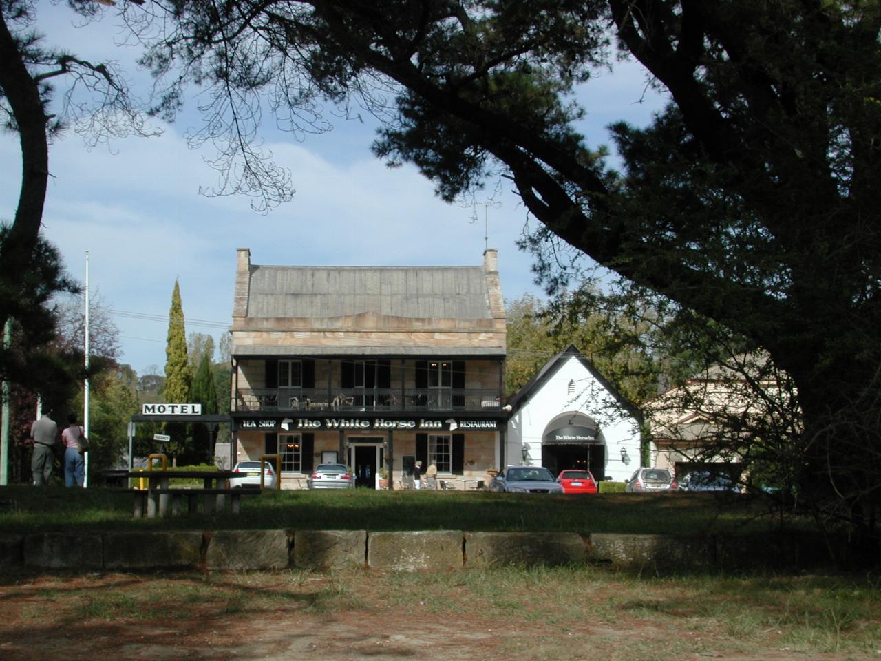
<instances>
[{"instance_id":1,"label":"stone block in low wall, below right end of the picnic table","mask_svg":"<svg viewBox=\"0 0 881 661\"><path fill-rule=\"evenodd\" d=\"M285 569L289 564L285 531L217 531L205 533L205 539L209 569Z\"/></svg>"}]
</instances>

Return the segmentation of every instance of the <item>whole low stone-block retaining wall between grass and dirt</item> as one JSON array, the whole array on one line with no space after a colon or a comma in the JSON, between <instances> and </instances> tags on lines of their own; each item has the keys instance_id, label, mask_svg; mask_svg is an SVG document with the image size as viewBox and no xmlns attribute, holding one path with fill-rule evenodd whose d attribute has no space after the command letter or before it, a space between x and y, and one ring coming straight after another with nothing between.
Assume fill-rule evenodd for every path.
<instances>
[{"instance_id":1,"label":"whole low stone-block retaining wall between grass and dirt","mask_svg":"<svg viewBox=\"0 0 881 661\"><path fill-rule=\"evenodd\" d=\"M811 533L681 537L574 532L129 531L0 534L0 568L368 568L448 571L606 563L631 570L795 568L827 563Z\"/></svg>"}]
</instances>

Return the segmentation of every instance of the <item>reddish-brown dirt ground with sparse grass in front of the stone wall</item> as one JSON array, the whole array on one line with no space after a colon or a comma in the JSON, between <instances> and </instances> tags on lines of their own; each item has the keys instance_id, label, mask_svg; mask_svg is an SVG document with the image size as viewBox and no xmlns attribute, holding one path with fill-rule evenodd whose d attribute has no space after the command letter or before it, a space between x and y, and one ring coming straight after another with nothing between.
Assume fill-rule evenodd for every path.
<instances>
[{"instance_id":1,"label":"reddish-brown dirt ground with sparse grass in front of the stone wall","mask_svg":"<svg viewBox=\"0 0 881 661\"><path fill-rule=\"evenodd\" d=\"M0 583L0 659L881 659L881 651L807 654L773 634L757 650L712 623L691 630L626 613L610 621L596 609L558 619L529 599L457 602L455 587L443 583L376 575L21 576Z\"/></svg>"}]
</instances>

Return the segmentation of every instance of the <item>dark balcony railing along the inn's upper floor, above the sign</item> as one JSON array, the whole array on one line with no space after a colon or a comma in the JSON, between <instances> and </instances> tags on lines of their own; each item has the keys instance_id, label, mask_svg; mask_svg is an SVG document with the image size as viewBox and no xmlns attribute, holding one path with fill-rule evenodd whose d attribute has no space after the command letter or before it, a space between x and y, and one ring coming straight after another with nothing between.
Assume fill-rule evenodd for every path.
<instances>
[{"instance_id":1,"label":"dark balcony railing along the inn's upper floor, above the sign","mask_svg":"<svg viewBox=\"0 0 881 661\"><path fill-rule=\"evenodd\" d=\"M394 388L236 390L235 411L493 411L501 408L498 390Z\"/></svg>"}]
</instances>

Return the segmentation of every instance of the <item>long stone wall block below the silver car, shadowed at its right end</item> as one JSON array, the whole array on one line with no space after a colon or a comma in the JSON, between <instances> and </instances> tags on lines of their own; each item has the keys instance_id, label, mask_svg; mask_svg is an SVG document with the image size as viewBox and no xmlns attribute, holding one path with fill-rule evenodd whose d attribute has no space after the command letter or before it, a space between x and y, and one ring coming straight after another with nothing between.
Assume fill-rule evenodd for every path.
<instances>
[{"instance_id":1,"label":"long stone wall block below the silver car, shadowed at its right end","mask_svg":"<svg viewBox=\"0 0 881 661\"><path fill-rule=\"evenodd\" d=\"M713 538L675 535L590 535L589 559L629 569L689 569L713 567Z\"/></svg>"}]
</instances>

